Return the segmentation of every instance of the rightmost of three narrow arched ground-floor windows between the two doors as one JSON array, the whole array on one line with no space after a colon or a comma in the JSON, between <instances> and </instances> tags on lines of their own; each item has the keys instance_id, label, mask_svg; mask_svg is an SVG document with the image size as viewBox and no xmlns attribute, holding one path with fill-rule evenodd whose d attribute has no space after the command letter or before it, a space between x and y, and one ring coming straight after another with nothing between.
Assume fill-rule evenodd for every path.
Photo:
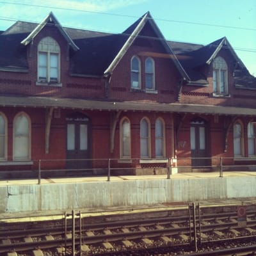
<instances>
[{"instance_id":1,"label":"rightmost of three narrow arched ground-floor windows between the two doors","mask_svg":"<svg viewBox=\"0 0 256 256\"><path fill-rule=\"evenodd\" d=\"M155 127L155 133L156 133L156 157L164 157L164 122L161 120L161 118L157 118L156 120L156 127Z\"/></svg>"}]
</instances>

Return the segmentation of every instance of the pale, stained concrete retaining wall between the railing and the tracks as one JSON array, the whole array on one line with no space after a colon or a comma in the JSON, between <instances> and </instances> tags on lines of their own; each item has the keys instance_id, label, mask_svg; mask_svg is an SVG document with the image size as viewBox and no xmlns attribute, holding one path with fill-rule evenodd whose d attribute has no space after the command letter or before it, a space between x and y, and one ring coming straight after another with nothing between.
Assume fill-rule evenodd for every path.
<instances>
[{"instance_id":1,"label":"pale, stained concrete retaining wall between the railing and the tracks","mask_svg":"<svg viewBox=\"0 0 256 256\"><path fill-rule=\"evenodd\" d=\"M0 213L104 208L256 196L256 177L0 186Z\"/></svg>"}]
</instances>

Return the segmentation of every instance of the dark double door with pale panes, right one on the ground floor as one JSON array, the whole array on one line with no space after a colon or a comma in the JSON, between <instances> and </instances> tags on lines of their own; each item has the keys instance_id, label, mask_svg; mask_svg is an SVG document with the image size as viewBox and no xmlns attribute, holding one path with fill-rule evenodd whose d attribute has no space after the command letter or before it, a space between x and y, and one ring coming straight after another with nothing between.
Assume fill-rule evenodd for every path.
<instances>
[{"instance_id":1,"label":"dark double door with pale panes, right one on the ground floor","mask_svg":"<svg viewBox=\"0 0 256 256\"><path fill-rule=\"evenodd\" d=\"M207 150L207 125L202 119L192 120L190 122L190 146L191 146L191 164L192 167L200 168L209 166L209 156Z\"/></svg>"}]
</instances>

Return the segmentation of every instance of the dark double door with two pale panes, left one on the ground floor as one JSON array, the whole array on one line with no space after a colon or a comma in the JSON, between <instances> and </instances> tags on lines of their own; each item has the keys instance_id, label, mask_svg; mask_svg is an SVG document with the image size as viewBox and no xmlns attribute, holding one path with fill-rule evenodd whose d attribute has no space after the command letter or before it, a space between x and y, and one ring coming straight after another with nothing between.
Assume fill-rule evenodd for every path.
<instances>
[{"instance_id":1,"label":"dark double door with two pale panes, left one on the ground floor","mask_svg":"<svg viewBox=\"0 0 256 256\"><path fill-rule=\"evenodd\" d=\"M90 169L90 120L81 113L67 116L67 163L68 169Z\"/></svg>"}]
</instances>

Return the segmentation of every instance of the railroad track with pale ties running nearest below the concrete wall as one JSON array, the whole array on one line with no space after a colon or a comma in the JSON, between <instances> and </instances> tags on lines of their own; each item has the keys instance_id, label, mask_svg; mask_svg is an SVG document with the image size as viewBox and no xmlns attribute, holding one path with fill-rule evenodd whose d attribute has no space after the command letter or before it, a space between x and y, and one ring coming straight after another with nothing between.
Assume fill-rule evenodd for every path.
<instances>
[{"instance_id":1,"label":"railroad track with pale ties running nearest below the concrete wall","mask_svg":"<svg viewBox=\"0 0 256 256\"><path fill-rule=\"evenodd\" d=\"M132 255L153 252L156 248L179 252L178 248L184 247L198 250L230 241L237 244L255 241L255 234L255 211L247 212L246 227L239 227L236 212L99 223L90 223L90 219L80 214L80 218L65 218L62 225L59 222L56 227L1 231L0 254L12 251L31 255L34 251L35 255L42 251L44 255L46 250L48 255Z\"/></svg>"}]
</instances>

